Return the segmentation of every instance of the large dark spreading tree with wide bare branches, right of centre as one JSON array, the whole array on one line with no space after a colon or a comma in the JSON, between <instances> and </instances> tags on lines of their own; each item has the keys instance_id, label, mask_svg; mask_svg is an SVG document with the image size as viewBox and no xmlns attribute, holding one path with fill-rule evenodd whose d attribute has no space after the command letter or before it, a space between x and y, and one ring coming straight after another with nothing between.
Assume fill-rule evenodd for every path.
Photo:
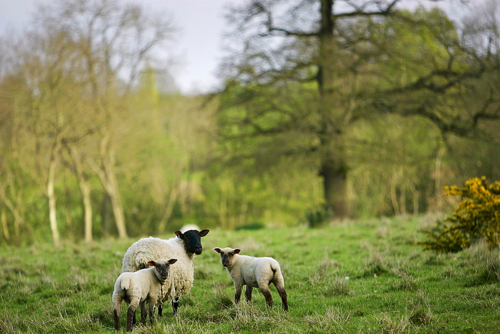
<instances>
[{"instance_id":1,"label":"large dark spreading tree with wide bare branches, right of centre","mask_svg":"<svg viewBox=\"0 0 500 334\"><path fill-rule=\"evenodd\" d=\"M238 142L233 157L309 160L326 208L345 217L353 123L397 113L465 135L497 119L488 96L473 109L454 102L495 68L492 53L469 47L442 11L409 12L396 8L401 3L253 0L233 8L241 47L223 64L219 117L222 137ZM457 117L462 110L469 112Z\"/></svg>"}]
</instances>

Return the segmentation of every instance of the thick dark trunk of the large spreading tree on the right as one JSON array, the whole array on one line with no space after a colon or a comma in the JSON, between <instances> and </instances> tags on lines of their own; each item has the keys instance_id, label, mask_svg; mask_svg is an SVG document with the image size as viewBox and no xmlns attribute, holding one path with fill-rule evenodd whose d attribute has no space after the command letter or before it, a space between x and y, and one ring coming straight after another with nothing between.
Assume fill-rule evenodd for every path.
<instances>
[{"instance_id":1,"label":"thick dark trunk of the large spreading tree on the right","mask_svg":"<svg viewBox=\"0 0 500 334\"><path fill-rule=\"evenodd\" d=\"M342 144L342 122L335 115L335 42L333 35L332 0L321 0L319 31L319 61L317 82L321 143L319 175L323 178L324 200L337 218L349 215L347 205L347 168Z\"/></svg>"}]
</instances>

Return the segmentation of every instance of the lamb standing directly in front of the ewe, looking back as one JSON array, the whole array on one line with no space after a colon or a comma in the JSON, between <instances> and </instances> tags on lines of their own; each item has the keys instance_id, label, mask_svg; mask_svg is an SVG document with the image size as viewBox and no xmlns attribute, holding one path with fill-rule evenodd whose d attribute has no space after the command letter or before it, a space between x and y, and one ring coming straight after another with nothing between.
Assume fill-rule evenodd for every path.
<instances>
[{"instance_id":1,"label":"lamb standing directly in front of the ewe, looking back","mask_svg":"<svg viewBox=\"0 0 500 334\"><path fill-rule=\"evenodd\" d=\"M135 272L123 272L114 283L113 291L113 319L114 329L119 330L121 301L125 300L129 304L126 315L126 330L132 331L132 324L135 324L135 309L140 307L140 320L146 322L146 303L148 304L149 322L154 322L154 306L158 296L161 294L163 284L168 278L169 266L177 259L160 259L148 261L150 268L141 269Z\"/></svg>"}]
</instances>

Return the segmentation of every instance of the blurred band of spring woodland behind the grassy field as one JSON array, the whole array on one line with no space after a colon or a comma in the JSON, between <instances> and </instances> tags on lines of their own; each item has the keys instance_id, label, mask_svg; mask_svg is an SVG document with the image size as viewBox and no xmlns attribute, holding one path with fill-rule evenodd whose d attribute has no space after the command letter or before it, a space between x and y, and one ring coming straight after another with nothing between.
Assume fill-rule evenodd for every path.
<instances>
[{"instance_id":1,"label":"blurred band of spring woodland behind the grassy field","mask_svg":"<svg viewBox=\"0 0 500 334\"><path fill-rule=\"evenodd\" d=\"M0 36L0 245L449 211L500 179L500 4L399 4L233 7L223 88L188 96L164 17L40 8Z\"/></svg>"}]
</instances>

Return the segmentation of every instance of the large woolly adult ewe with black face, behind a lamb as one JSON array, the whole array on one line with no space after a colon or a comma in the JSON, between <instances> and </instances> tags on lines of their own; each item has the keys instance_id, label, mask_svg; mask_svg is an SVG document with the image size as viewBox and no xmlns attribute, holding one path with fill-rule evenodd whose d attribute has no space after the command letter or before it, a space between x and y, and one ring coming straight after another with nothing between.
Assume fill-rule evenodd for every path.
<instances>
[{"instance_id":1,"label":"large woolly adult ewe with black face, behind a lamb","mask_svg":"<svg viewBox=\"0 0 500 334\"><path fill-rule=\"evenodd\" d=\"M173 315L177 314L179 298L188 293L194 281L194 254L199 255L201 247L200 237L205 236L208 229L201 231L190 229L184 233L176 231L177 237L160 239L156 237L141 238L128 247L121 271L137 271L146 267L147 261L158 258L176 258L177 263L170 270L165 282L161 298L158 300L158 315L161 316L163 303L172 300Z\"/></svg>"}]
</instances>

